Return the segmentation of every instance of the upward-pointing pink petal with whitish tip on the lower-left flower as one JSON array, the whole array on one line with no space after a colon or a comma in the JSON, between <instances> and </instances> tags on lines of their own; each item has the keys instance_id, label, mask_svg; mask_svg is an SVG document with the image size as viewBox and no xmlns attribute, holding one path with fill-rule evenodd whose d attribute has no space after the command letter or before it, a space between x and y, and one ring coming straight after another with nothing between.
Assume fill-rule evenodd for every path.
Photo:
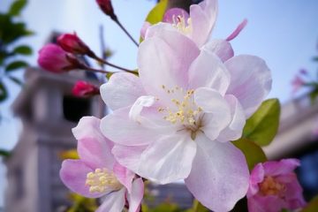
<instances>
[{"instance_id":1,"label":"upward-pointing pink petal with whitish tip on the lower-left flower","mask_svg":"<svg viewBox=\"0 0 318 212\"><path fill-rule=\"evenodd\" d=\"M97 117L82 117L79 125L72 129L78 141L80 159L91 169L112 169L114 156L111 154L113 143L106 139L100 130L101 120Z\"/></svg>"}]
</instances>

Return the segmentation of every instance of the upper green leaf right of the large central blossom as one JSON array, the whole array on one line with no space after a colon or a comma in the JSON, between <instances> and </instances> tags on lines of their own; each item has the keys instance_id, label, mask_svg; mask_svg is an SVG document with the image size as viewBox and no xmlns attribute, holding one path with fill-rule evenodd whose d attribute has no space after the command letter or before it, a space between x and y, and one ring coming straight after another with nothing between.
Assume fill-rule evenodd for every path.
<instances>
[{"instance_id":1,"label":"upper green leaf right of the large central blossom","mask_svg":"<svg viewBox=\"0 0 318 212\"><path fill-rule=\"evenodd\" d=\"M277 99L262 102L261 107L247 119L243 137L260 146L269 145L277 133L279 116L280 104Z\"/></svg>"}]
</instances>

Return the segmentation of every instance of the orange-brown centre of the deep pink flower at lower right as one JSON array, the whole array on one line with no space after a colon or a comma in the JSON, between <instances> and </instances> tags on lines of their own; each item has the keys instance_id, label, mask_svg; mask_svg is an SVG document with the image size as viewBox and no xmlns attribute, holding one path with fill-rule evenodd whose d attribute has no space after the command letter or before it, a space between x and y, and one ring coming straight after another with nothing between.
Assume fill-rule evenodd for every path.
<instances>
[{"instance_id":1,"label":"orange-brown centre of the deep pink flower at lower right","mask_svg":"<svg viewBox=\"0 0 318 212\"><path fill-rule=\"evenodd\" d=\"M277 182L273 177L265 177L259 186L261 194L263 195L278 195L279 197L284 197L286 187L284 184Z\"/></svg>"}]
</instances>

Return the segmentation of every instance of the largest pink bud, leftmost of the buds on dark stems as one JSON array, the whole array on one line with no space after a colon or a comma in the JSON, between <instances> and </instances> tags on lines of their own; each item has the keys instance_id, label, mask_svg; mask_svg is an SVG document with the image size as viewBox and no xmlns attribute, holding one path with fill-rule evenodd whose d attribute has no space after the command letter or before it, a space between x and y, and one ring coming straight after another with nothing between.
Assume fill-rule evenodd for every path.
<instances>
[{"instance_id":1,"label":"largest pink bud, leftmost of the buds on dark stems","mask_svg":"<svg viewBox=\"0 0 318 212\"><path fill-rule=\"evenodd\" d=\"M49 43L39 51L38 64L49 72L61 73L81 68L79 60L56 44Z\"/></svg>"}]
</instances>

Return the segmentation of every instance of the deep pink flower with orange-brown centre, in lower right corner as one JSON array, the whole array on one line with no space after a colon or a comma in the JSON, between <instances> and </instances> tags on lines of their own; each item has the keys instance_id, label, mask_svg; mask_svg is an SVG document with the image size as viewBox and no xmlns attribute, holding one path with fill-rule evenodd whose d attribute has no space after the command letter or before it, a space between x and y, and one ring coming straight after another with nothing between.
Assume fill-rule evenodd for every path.
<instances>
[{"instance_id":1,"label":"deep pink flower with orange-brown centre, in lower right corner","mask_svg":"<svg viewBox=\"0 0 318 212\"><path fill-rule=\"evenodd\" d=\"M247 192L248 211L277 212L297 209L306 205L293 170L299 166L297 159L258 163L252 171Z\"/></svg>"}]
</instances>

